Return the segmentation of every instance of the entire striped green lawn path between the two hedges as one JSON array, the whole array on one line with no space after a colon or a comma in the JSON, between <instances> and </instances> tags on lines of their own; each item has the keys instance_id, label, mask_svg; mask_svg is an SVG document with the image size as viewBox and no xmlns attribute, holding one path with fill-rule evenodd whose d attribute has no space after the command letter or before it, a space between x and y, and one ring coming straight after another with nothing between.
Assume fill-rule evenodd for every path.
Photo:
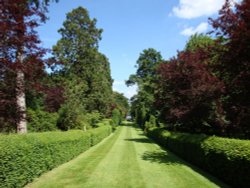
<instances>
[{"instance_id":1,"label":"entire striped green lawn path between the two hedges","mask_svg":"<svg viewBox=\"0 0 250 188\"><path fill-rule=\"evenodd\" d=\"M132 126L123 126L74 160L42 175L34 188L226 187Z\"/></svg>"}]
</instances>

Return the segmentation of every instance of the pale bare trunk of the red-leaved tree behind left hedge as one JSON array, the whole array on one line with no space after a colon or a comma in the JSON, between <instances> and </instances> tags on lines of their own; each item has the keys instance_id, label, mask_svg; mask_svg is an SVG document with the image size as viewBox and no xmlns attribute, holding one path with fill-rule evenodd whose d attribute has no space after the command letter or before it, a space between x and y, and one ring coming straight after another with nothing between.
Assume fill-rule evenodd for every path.
<instances>
[{"instance_id":1,"label":"pale bare trunk of the red-leaved tree behind left hedge","mask_svg":"<svg viewBox=\"0 0 250 188\"><path fill-rule=\"evenodd\" d=\"M20 55L18 60L19 63L22 64L23 56ZM18 68L16 73L16 104L19 114L17 121L17 133L27 133L24 72L20 68Z\"/></svg>"}]
</instances>

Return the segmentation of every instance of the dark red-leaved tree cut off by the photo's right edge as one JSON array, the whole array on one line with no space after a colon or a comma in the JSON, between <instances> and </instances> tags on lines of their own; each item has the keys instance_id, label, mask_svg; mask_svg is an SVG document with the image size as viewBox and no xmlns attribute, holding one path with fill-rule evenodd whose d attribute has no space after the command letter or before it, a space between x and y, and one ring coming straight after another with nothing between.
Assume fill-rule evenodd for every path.
<instances>
[{"instance_id":1,"label":"dark red-leaved tree cut off by the photo's right edge","mask_svg":"<svg viewBox=\"0 0 250 188\"><path fill-rule=\"evenodd\" d=\"M217 43L224 46L217 69L225 82L224 108L231 126L250 135L250 1L226 0L217 19L210 19ZM235 129L233 130L235 132Z\"/></svg>"}]
</instances>

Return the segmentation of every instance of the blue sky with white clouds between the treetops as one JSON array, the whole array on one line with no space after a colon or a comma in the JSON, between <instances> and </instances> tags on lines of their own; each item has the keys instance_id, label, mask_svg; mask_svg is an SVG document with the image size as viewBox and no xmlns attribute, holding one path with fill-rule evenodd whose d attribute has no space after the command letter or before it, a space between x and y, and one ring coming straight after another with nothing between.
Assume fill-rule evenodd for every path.
<instances>
[{"instance_id":1,"label":"blue sky with white clouds between the treetops","mask_svg":"<svg viewBox=\"0 0 250 188\"><path fill-rule=\"evenodd\" d=\"M66 14L82 6L102 28L99 51L105 54L114 79L113 90L130 98L136 86L125 80L136 72L136 60L144 49L154 48L169 59L183 50L194 33L211 30L208 17L216 18L224 0L59 0L51 3L49 20L38 28L43 47L52 48Z\"/></svg>"}]
</instances>

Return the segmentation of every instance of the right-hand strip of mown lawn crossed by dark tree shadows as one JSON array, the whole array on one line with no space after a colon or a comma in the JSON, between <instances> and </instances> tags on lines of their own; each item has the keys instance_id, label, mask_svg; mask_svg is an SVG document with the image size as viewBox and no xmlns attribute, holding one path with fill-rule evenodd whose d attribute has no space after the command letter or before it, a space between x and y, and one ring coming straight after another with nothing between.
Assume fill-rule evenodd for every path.
<instances>
[{"instance_id":1,"label":"right-hand strip of mown lawn crossed by dark tree shadows","mask_svg":"<svg viewBox=\"0 0 250 188\"><path fill-rule=\"evenodd\" d=\"M224 184L211 178L207 173L192 168L171 152L162 150L144 136L141 130L132 130L138 161L147 187L162 187L162 185L166 187L195 187L197 185L201 187L225 187Z\"/></svg>"}]
</instances>

